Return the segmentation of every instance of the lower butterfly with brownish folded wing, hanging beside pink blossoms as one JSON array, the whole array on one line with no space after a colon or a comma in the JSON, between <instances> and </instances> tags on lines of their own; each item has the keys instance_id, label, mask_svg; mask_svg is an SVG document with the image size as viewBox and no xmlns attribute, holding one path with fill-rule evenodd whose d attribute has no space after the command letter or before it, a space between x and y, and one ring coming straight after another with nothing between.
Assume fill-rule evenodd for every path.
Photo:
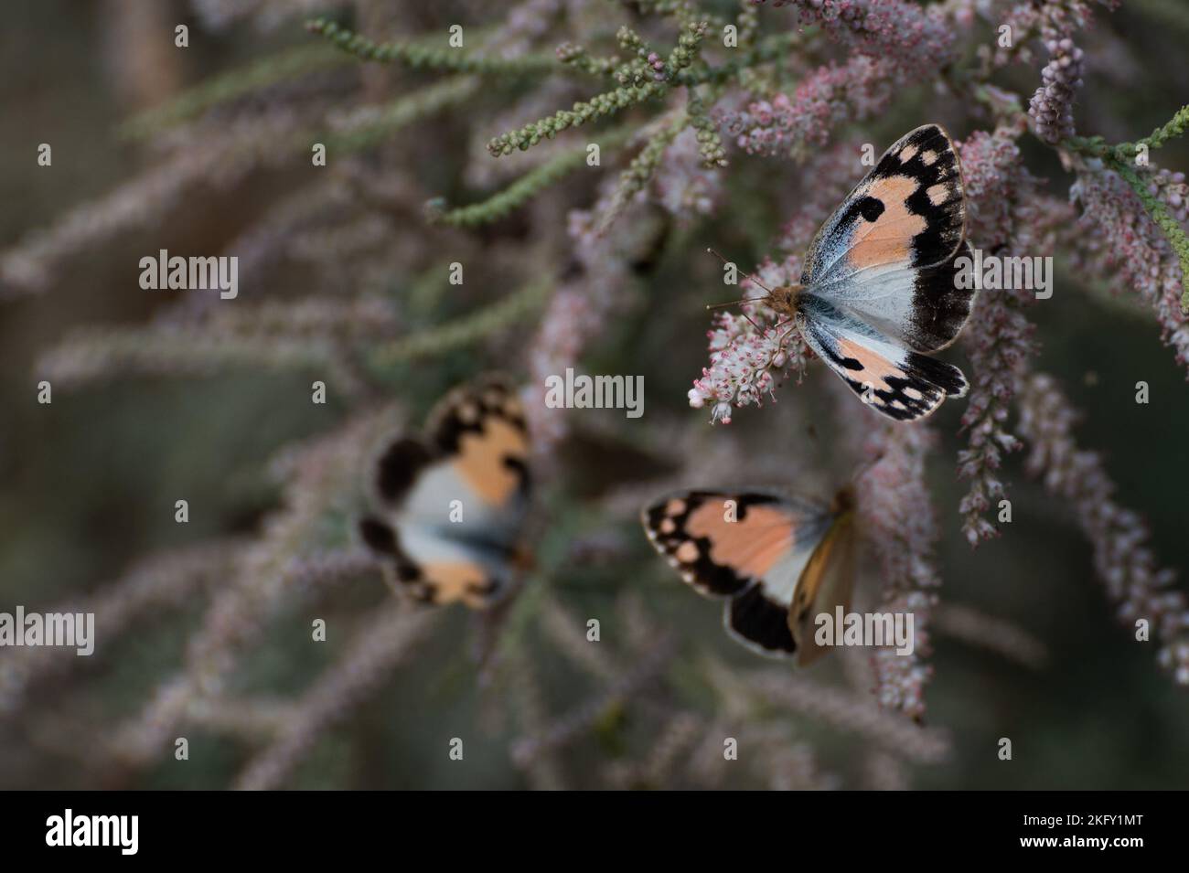
<instances>
[{"instance_id":1,"label":"lower butterfly with brownish folded wing, hanging beside pink blossoms","mask_svg":"<svg viewBox=\"0 0 1189 873\"><path fill-rule=\"evenodd\" d=\"M729 599L729 635L804 665L828 651L814 643L816 618L850 611L853 507L849 487L829 506L765 492L680 491L646 506L641 523L699 594Z\"/></svg>"}]
</instances>

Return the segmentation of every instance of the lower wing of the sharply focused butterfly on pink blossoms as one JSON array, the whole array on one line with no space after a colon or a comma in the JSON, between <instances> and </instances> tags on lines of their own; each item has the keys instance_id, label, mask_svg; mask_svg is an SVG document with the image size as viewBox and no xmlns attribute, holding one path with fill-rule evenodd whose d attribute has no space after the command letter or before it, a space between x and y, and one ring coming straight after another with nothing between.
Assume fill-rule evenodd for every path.
<instances>
[{"instance_id":1,"label":"lower wing of the sharply focused butterfly on pink blossoms","mask_svg":"<svg viewBox=\"0 0 1189 873\"><path fill-rule=\"evenodd\" d=\"M801 295L800 306L805 342L875 411L908 422L965 396L967 379L952 363L908 352L813 293Z\"/></svg>"}]
</instances>

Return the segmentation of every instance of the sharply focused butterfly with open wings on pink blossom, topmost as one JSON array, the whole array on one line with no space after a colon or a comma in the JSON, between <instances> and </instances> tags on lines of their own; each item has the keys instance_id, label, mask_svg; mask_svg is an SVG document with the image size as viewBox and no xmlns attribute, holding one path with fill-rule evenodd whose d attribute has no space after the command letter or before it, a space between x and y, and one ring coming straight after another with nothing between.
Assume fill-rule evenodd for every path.
<instances>
[{"instance_id":1,"label":"sharply focused butterfly with open wings on pink blossom, topmost","mask_svg":"<svg viewBox=\"0 0 1189 873\"><path fill-rule=\"evenodd\" d=\"M925 125L888 148L818 229L799 285L756 285L863 403L897 420L964 397L962 371L926 358L952 343L975 291L957 287L965 241L962 167ZM969 264L970 261L965 261ZM784 323L788 323L787 321Z\"/></svg>"}]
</instances>

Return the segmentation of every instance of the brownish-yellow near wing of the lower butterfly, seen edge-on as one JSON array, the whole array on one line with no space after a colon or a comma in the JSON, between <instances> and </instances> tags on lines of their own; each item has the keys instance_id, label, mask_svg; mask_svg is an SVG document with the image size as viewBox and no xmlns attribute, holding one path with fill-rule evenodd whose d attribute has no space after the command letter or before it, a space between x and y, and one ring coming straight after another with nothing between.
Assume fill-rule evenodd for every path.
<instances>
[{"instance_id":1,"label":"brownish-yellow near wing of the lower butterfly, seen edge-on","mask_svg":"<svg viewBox=\"0 0 1189 873\"><path fill-rule=\"evenodd\" d=\"M812 664L828 651L814 639L817 618L823 613L833 621L835 609L850 612L855 587L855 513L842 512L835 517L830 530L822 538L797 583L797 594L788 611L788 630L797 643L797 663Z\"/></svg>"}]
</instances>

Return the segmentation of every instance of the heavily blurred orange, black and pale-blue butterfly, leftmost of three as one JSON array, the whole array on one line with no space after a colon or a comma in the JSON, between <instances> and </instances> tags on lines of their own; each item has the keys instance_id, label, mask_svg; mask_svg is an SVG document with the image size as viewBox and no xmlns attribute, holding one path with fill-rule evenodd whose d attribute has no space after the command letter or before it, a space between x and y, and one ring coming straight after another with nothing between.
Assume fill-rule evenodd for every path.
<instances>
[{"instance_id":1,"label":"heavily blurred orange, black and pale-blue butterfly, leftmost of three","mask_svg":"<svg viewBox=\"0 0 1189 873\"><path fill-rule=\"evenodd\" d=\"M523 559L528 453L521 401L498 375L455 388L422 435L388 445L375 468L383 508L359 533L394 588L472 608L508 593Z\"/></svg>"}]
</instances>

